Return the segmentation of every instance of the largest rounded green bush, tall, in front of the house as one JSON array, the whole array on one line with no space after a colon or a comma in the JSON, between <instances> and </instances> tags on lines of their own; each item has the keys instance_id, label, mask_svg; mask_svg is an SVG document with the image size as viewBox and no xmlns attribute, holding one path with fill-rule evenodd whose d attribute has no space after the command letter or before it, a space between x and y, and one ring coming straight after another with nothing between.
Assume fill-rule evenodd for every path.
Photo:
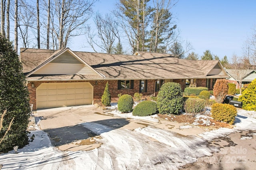
<instances>
[{"instance_id":1,"label":"largest rounded green bush, tall, in front of the house","mask_svg":"<svg viewBox=\"0 0 256 170\"><path fill-rule=\"evenodd\" d=\"M157 96L157 108L160 114L178 114L182 109L181 86L175 82L164 83Z\"/></svg>"}]
</instances>

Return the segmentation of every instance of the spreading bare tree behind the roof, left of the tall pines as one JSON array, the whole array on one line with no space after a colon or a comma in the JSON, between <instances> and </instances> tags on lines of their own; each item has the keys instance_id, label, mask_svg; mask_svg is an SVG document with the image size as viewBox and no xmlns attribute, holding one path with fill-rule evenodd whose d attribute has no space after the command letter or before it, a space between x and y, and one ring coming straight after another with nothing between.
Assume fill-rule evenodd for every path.
<instances>
[{"instance_id":1,"label":"spreading bare tree behind the roof, left of the tall pines","mask_svg":"<svg viewBox=\"0 0 256 170\"><path fill-rule=\"evenodd\" d=\"M93 31L91 31L92 29L88 27L88 43L95 52L97 52L94 47L96 45L106 53L113 53L115 41L120 43L117 21L115 21L113 16L110 16L109 14L106 14L105 18L103 18L100 13L96 13L94 23L98 32L94 34ZM95 36L97 38L94 38Z\"/></svg>"}]
</instances>

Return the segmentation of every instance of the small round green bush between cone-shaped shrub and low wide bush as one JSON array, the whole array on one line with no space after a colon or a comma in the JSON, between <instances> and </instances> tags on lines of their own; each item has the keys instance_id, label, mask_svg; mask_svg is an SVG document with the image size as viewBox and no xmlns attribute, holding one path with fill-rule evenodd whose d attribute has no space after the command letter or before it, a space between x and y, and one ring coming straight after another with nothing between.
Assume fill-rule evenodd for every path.
<instances>
[{"instance_id":1,"label":"small round green bush between cone-shaped shrub and low wide bush","mask_svg":"<svg viewBox=\"0 0 256 170\"><path fill-rule=\"evenodd\" d=\"M133 99L131 95L124 94L120 96L117 103L118 110L122 113L126 113L128 111L132 111L133 107Z\"/></svg>"}]
</instances>

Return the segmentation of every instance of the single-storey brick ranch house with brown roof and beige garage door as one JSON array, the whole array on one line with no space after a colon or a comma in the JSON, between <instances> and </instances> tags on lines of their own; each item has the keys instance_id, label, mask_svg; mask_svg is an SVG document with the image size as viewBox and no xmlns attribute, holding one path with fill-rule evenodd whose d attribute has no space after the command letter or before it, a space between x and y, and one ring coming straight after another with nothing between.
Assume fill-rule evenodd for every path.
<instances>
[{"instance_id":1,"label":"single-storey brick ranch house with brown roof and beige garage door","mask_svg":"<svg viewBox=\"0 0 256 170\"><path fill-rule=\"evenodd\" d=\"M228 78L220 61L178 59L170 54L138 51L117 55L60 50L20 49L33 109L93 104L106 82L112 98L119 93L156 96L165 82L186 80L212 89L216 79Z\"/></svg>"}]
</instances>

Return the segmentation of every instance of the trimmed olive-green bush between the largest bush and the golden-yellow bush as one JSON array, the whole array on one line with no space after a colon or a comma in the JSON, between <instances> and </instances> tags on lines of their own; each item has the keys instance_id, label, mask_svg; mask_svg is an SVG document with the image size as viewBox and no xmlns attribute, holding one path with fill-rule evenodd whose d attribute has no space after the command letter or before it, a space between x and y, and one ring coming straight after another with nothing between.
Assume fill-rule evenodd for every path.
<instances>
[{"instance_id":1,"label":"trimmed olive-green bush between the largest bush and the golden-yellow bush","mask_svg":"<svg viewBox=\"0 0 256 170\"><path fill-rule=\"evenodd\" d=\"M184 109L186 113L196 114L204 111L206 100L200 98L188 98L185 102Z\"/></svg>"}]
</instances>

